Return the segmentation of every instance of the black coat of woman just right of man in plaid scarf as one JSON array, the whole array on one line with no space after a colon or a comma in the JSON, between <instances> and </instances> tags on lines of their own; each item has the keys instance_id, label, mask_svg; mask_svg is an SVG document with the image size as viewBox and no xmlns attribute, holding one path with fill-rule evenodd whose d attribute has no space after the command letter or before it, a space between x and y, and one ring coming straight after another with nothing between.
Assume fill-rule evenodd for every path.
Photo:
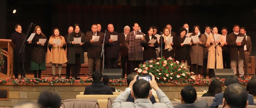
<instances>
[{"instance_id":1,"label":"black coat of woman just right of man in plaid scarf","mask_svg":"<svg viewBox=\"0 0 256 108\"><path fill-rule=\"evenodd\" d=\"M155 36L152 35L151 39L157 39ZM156 40L156 42L154 43L154 47L149 47L148 45L150 45L148 42L150 41L149 35L145 35L145 40L146 40L146 44L142 44L144 47L144 51L143 51L143 59L156 59L156 48L158 48L158 42Z\"/></svg>"}]
</instances>

